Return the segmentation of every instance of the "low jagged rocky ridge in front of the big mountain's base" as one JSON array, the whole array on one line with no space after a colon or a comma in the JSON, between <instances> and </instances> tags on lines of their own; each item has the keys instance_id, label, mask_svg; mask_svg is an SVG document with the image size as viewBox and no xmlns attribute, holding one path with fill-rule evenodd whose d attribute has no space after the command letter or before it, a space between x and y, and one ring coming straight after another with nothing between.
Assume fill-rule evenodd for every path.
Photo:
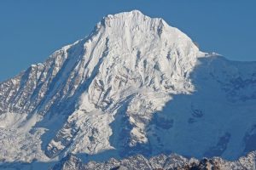
<instances>
[{"instance_id":1,"label":"low jagged rocky ridge in front of the big mountain's base","mask_svg":"<svg viewBox=\"0 0 256 170\"><path fill-rule=\"evenodd\" d=\"M153 156L147 159L138 155L119 161L112 158L104 162L90 161L85 164L78 157L70 154L56 164L52 170L253 170L256 169L255 158L255 152L237 161L225 161L220 157L201 160L187 159L176 154Z\"/></svg>"}]
</instances>

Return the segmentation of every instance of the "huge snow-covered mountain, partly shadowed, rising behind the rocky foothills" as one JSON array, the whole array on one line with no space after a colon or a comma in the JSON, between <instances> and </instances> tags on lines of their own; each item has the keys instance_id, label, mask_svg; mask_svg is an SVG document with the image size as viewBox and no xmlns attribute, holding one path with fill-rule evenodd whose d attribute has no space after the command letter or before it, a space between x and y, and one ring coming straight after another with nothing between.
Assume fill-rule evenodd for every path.
<instances>
[{"instance_id":1,"label":"huge snow-covered mountain, partly shadowed, rising behind the rocky foothills","mask_svg":"<svg viewBox=\"0 0 256 170\"><path fill-rule=\"evenodd\" d=\"M236 50L236 49L235 49ZM256 149L256 62L200 51L134 10L0 83L0 160L176 152L236 159Z\"/></svg>"}]
</instances>

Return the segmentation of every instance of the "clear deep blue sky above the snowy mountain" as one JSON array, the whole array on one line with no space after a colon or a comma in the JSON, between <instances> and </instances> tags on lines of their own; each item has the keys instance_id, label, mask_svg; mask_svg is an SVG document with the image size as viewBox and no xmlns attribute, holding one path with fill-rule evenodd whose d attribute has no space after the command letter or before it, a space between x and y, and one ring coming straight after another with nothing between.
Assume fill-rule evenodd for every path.
<instances>
[{"instance_id":1,"label":"clear deep blue sky above the snowy mountain","mask_svg":"<svg viewBox=\"0 0 256 170\"><path fill-rule=\"evenodd\" d=\"M203 51L256 60L256 0L1 0L0 82L132 9L164 18Z\"/></svg>"}]
</instances>

